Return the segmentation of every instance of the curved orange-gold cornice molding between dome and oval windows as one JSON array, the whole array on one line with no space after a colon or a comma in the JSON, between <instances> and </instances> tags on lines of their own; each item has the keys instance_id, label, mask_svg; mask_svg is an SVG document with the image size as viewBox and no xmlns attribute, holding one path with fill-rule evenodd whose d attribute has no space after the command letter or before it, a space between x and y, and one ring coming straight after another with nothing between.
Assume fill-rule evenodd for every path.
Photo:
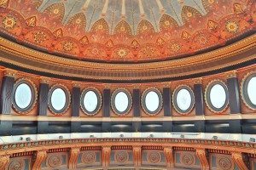
<instances>
[{"instance_id":1,"label":"curved orange-gold cornice molding between dome and oval windows","mask_svg":"<svg viewBox=\"0 0 256 170\"><path fill-rule=\"evenodd\" d=\"M256 59L256 34L224 48L185 59L144 64L104 64L44 54L0 37L0 61L32 71L90 80L157 80L216 71ZM104 68L102 70L102 68Z\"/></svg>"}]
</instances>

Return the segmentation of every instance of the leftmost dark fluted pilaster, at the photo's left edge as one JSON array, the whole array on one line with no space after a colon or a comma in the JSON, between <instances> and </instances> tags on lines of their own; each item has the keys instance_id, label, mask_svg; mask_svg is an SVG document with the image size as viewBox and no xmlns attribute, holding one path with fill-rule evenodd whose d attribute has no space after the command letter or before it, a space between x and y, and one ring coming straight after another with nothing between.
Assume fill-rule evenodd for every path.
<instances>
[{"instance_id":1,"label":"leftmost dark fluted pilaster, at the photo's left edge","mask_svg":"<svg viewBox=\"0 0 256 170\"><path fill-rule=\"evenodd\" d=\"M15 77L3 77L1 88L0 113L9 115L12 106L12 94L15 84Z\"/></svg>"}]
</instances>

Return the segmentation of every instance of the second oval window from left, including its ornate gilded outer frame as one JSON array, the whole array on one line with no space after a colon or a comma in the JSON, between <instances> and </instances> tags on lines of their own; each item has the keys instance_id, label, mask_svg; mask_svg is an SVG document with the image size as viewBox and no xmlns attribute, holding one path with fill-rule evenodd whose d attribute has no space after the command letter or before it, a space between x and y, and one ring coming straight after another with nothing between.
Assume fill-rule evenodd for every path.
<instances>
[{"instance_id":1,"label":"second oval window from left, including its ornate gilded outer frame","mask_svg":"<svg viewBox=\"0 0 256 170\"><path fill-rule=\"evenodd\" d=\"M67 111L70 104L70 94L66 87L55 85L49 90L49 109L55 114Z\"/></svg>"}]
</instances>

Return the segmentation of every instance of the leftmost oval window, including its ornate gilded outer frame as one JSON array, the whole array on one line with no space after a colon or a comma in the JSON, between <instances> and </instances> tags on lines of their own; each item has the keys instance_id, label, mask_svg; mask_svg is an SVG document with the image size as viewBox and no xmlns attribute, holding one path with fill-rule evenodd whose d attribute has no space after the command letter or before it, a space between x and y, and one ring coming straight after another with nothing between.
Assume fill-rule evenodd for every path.
<instances>
[{"instance_id":1,"label":"leftmost oval window, including its ornate gilded outer frame","mask_svg":"<svg viewBox=\"0 0 256 170\"><path fill-rule=\"evenodd\" d=\"M13 106L15 111L28 112L36 103L37 89L31 82L20 79L15 82Z\"/></svg>"}]
</instances>

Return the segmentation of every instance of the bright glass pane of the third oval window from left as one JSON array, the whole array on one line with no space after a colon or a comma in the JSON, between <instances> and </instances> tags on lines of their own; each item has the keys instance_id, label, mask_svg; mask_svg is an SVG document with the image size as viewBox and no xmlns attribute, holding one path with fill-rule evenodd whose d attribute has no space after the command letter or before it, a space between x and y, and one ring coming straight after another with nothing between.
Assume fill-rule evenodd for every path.
<instances>
[{"instance_id":1,"label":"bright glass pane of the third oval window from left","mask_svg":"<svg viewBox=\"0 0 256 170\"><path fill-rule=\"evenodd\" d=\"M88 91L84 95L84 108L87 111L95 111L98 105L98 98L94 91Z\"/></svg>"}]
</instances>

